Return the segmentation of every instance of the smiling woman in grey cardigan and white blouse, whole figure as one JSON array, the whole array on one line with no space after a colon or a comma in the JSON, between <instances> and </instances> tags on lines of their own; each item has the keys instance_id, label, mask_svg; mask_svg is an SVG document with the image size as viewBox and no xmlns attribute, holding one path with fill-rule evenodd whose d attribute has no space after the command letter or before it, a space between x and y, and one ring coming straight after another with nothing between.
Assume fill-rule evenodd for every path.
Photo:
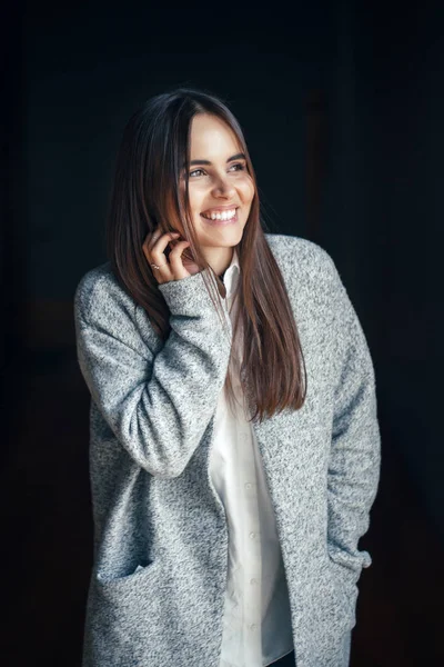
<instances>
[{"instance_id":1,"label":"smiling woman in grey cardigan and white blouse, whole figure","mask_svg":"<svg viewBox=\"0 0 444 667\"><path fill-rule=\"evenodd\" d=\"M264 233L241 128L130 119L74 300L94 519L83 667L349 665L379 484L374 372L333 260Z\"/></svg>"}]
</instances>

